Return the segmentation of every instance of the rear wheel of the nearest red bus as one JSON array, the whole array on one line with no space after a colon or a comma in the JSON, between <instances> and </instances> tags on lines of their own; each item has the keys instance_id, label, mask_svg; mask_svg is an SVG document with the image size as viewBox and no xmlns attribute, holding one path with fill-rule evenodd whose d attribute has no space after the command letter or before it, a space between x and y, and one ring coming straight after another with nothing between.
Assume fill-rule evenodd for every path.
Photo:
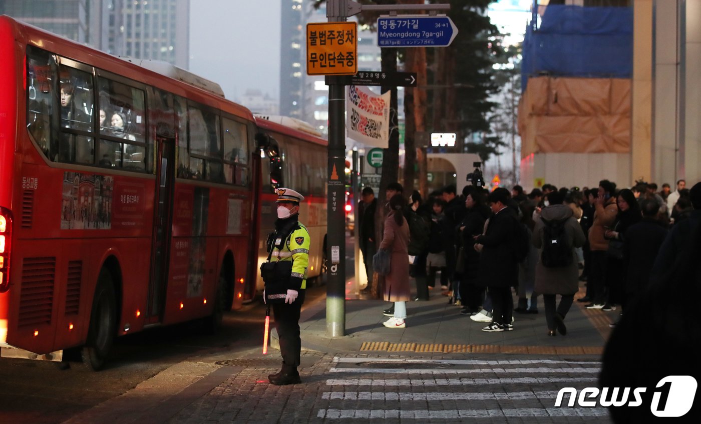
<instances>
[{"instance_id":1,"label":"rear wheel of the nearest red bus","mask_svg":"<svg viewBox=\"0 0 701 424\"><path fill-rule=\"evenodd\" d=\"M102 269L95 288L93 309L90 311L88 340L81 352L83 365L92 371L104 367L114 342L117 325L115 298L112 276L107 269Z\"/></svg>"}]
</instances>

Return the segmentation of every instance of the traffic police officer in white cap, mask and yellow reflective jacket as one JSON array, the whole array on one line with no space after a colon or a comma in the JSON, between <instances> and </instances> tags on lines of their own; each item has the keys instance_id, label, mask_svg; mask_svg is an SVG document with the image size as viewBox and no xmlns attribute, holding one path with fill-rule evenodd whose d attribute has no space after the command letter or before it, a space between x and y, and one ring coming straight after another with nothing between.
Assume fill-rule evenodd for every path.
<instances>
[{"instance_id":1,"label":"traffic police officer in white cap, mask and yellow reflective jacket","mask_svg":"<svg viewBox=\"0 0 701 424\"><path fill-rule=\"evenodd\" d=\"M278 220L268 242L268 249L272 248L268 262L292 261L292 273L286 278L287 284L282 292L266 294L266 302L273 306L275 330L278 331L283 356L282 369L277 374L269 375L268 380L277 386L285 386L301 383L297 372L301 352L299 313L306 289L310 240L306 227L298 220L299 202L304 200L304 196L289 188L278 188L276 191ZM286 292L284 288L287 288ZM285 302L281 302L283 297Z\"/></svg>"}]
</instances>

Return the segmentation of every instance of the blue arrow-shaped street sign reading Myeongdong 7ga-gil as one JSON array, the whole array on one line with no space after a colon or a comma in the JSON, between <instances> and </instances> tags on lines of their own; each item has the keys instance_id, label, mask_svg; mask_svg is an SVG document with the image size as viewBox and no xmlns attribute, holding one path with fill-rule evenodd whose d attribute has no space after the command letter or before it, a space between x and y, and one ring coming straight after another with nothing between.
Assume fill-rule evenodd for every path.
<instances>
[{"instance_id":1,"label":"blue arrow-shaped street sign reading Myeongdong 7ga-gil","mask_svg":"<svg viewBox=\"0 0 701 424\"><path fill-rule=\"evenodd\" d=\"M380 47L444 47L456 35L458 28L447 16L402 15L377 20Z\"/></svg>"}]
</instances>

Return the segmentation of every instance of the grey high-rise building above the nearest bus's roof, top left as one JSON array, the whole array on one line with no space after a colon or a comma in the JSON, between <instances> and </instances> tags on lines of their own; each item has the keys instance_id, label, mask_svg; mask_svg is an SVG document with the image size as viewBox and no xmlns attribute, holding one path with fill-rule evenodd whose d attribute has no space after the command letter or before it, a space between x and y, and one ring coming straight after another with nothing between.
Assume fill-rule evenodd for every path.
<instances>
[{"instance_id":1,"label":"grey high-rise building above the nearest bus's roof, top left","mask_svg":"<svg viewBox=\"0 0 701 424\"><path fill-rule=\"evenodd\" d=\"M5 0L10 15L79 43L135 59L189 66L190 0Z\"/></svg>"}]
</instances>

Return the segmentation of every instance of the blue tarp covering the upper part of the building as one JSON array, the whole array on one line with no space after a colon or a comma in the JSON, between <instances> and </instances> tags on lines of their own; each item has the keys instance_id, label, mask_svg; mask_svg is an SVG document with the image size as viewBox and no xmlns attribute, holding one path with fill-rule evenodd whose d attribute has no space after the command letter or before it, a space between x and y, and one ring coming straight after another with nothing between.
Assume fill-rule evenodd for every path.
<instances>
[{"instance_id":1,"label":"blue tarp covering the upper part of the building","mask_svg":"<svg viewBox=\"0 0 701 424\"><path fill-rule=\"evenodd\" d=\"M529 76L630 78L633 9L551 5L526 29L522 90Z\"/></svg>"}]
</instances>

